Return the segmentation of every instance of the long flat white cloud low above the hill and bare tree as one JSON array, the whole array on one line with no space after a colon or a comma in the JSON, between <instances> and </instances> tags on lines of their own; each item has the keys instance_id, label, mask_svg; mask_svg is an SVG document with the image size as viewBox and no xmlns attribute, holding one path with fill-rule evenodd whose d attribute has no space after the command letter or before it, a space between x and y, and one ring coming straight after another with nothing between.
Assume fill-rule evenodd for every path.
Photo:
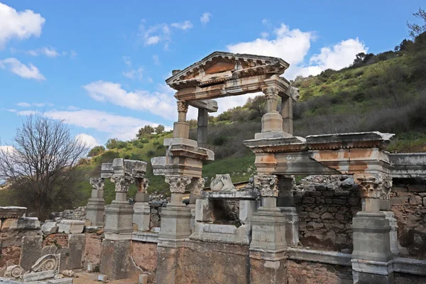
<instances>
[{"instance_id":1,"label":"long flat white cloud low above the hill and bare tree","mask_svg":"<svg viewBox=\"0 0 426 284\"><path fill-rule=\"evenodd\" d=\"M84 129L95 129L99 132L109 133L111 137L123 140L134 138L138 129L147 124L158 126L151 121L144 121L131 116L119 116L94 109L52 110L45 112L44 115L51 119L64 119L68 124L80 126Z\"/></svg>"}]
</instances>

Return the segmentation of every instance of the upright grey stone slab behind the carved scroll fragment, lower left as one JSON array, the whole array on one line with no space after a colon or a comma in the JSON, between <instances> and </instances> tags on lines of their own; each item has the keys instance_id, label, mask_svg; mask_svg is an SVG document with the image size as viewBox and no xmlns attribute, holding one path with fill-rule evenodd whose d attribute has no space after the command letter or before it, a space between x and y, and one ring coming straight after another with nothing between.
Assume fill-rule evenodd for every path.
<instances>
[{"instance_id":1,"label":"upright grey stone slab behind the carved scroll fragment, lower left","mask_svg":"<svg viewBox=\"0 0 426 284\"><path fill-rule=\"evenodd\" d=\"M19 265L25 271L30 271L31 266L40 258L42 244L43 236L23 236Z\"/></svg>"}]
</instances>

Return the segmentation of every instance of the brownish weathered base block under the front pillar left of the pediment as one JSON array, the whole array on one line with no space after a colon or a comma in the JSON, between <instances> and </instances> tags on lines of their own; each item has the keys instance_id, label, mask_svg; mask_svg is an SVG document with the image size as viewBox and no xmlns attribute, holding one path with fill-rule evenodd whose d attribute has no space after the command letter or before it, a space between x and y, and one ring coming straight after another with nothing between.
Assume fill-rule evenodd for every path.
<instances>
[{"instance_id":1,"label":"brownish weathered base block under the front pillar left of the pediment","mask_svg":"<svg viewBox=\"0 0 426 284\"><path fill-rule=\"evenodd\" d=\"M131 241L102 241L101 273L111 280L137 278L141 270L131 260Z\"/></svg>"}]
</instances>

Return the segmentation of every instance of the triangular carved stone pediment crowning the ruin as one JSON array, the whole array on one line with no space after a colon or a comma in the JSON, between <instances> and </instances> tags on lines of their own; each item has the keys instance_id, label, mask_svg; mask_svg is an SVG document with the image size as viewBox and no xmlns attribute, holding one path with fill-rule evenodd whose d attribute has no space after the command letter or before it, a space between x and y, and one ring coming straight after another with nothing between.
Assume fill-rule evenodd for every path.
<instances>
[{"instance_id":1,"label":"triangular carved stone pediment crowning the ruin","mask_svg":"<svg viewBox=\"0 0 426 284\"><path fill-rule=\"evenodd\" d=\"M175 70L165 82L176 90L206 87L256 75L281 75L289 66L280 58L215 51L184 70Z\"/></svg>"}]
</instances>

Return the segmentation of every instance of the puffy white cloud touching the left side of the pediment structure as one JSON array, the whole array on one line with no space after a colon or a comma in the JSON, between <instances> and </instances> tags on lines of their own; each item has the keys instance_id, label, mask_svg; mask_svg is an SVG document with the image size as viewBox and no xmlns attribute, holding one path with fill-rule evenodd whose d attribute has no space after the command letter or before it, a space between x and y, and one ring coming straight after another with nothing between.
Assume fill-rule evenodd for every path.
<instances>
[{"instance_id":1,"label":"puffy white cloud touching the left side of the pediment structure","mask_svg":"<svg viewBox=\"0 0 426 284\"><path fill-rule=\"evenodd\" d=\"M175 119L176 99L170 87L160 87L160 92L136 90L127 92L119 83L104 82L102 80L91 82L82 86L90 97L99 102L111 102L121 107L138 111L150 111L165 119Z\"/></svg>"}]
</instances>

